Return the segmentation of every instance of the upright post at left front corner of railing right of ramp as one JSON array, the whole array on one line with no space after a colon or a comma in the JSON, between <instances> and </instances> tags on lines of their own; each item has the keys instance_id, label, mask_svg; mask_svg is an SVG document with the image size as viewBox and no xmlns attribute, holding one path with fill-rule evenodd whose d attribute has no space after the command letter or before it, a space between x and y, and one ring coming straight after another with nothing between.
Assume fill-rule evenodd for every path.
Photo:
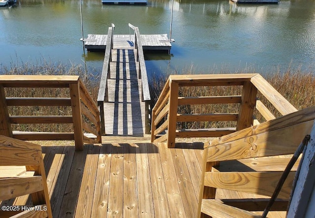
<instances>
[{"instance_id":1,"label":"upright post at left front corner of railing right of ramp","mask_svg":"<svg viewBox=\"0 0 315 218\"><path fill-rule=\"evenodd\" d=\"M179 84L170 80L170 95L169 95L169 113L168 113L168 129L167 129L167 146L168 148L175 147L176 136L176 120L178 107L178 89Z\"/></svg>"}]
</instances>

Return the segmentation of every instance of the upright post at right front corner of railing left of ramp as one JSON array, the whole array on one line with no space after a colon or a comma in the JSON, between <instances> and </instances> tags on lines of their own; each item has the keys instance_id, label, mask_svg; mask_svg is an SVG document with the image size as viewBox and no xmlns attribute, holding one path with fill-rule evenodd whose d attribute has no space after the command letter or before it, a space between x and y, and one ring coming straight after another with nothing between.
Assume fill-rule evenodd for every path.
<instances>
[{"instance_id":1,"label":"upright post at right front corner of railing left of ramp","mask_svg":"<svg viewBox=\"0 0 315 218\"><path fill-rule=\"evenodd\" d=\"M75 150L83 150L83 132L82 132L82 113L81 113L81 101L80 101L80 83L69 84L71 108L72 108L72 120L73 120L73 132Z\"/></svg>"}]
</instances>

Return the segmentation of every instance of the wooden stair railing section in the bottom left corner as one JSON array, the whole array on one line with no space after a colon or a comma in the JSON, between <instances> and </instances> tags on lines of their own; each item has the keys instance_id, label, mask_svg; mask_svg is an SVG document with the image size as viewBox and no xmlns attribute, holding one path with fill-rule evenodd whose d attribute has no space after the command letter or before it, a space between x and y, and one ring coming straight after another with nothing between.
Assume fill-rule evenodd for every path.
<instances>
[{"instance_id":1,"label":"wooden stair railing section in the bottom left corner","mask_svg":"<svg viewBox=\"0 0 315 218\"><path fill-rule=\"evenodd\" d=\"M27 172L16 175L14 168L21 166L26 166ZM3 204L4 200L28 194L32 196L32 206ZM1 218L52 218L40 145L0 135L0 203Z\"/></svg>"}]
</instances>

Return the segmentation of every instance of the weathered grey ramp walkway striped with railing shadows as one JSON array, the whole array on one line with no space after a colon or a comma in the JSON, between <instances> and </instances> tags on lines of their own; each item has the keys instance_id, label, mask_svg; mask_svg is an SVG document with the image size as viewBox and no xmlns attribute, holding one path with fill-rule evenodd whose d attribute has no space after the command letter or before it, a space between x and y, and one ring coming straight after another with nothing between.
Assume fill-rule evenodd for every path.
<instances>
[{"instance_id":1,"label":"weathered grey ramp walkway striped with railing shadows","mask_svg":"<svg viewBox=\"0 0 315 218\"><path fill-rule=\"evenodd\" d=\"M112 51L108 102L104 102L106 135L143 136L145 132L145 103L141 101L138 65L135 50Z\"/></svg>"}]
</instances>

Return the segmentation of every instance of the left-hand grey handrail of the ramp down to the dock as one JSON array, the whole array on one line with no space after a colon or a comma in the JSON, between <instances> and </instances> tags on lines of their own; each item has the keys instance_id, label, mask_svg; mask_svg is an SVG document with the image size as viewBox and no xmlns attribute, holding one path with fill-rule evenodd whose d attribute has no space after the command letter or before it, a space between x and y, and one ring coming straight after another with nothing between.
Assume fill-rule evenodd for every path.
<instances>
[{"instance_id":1,"label":"left-hand grey handrail of the ramp down to the dock","mask_svg":"<svg viewBox=\"0 0 315 218\"><path fill-rule=\"evenodd\" d=\"M100 126L102 135L105 135L104 102L108 101L107 79L110 79L110 62L112 61L114 29L114 24L112 24L112 26L108 28L105 57L97 95L97 104L100 112Z\"/></svg>"}]
</instances>

